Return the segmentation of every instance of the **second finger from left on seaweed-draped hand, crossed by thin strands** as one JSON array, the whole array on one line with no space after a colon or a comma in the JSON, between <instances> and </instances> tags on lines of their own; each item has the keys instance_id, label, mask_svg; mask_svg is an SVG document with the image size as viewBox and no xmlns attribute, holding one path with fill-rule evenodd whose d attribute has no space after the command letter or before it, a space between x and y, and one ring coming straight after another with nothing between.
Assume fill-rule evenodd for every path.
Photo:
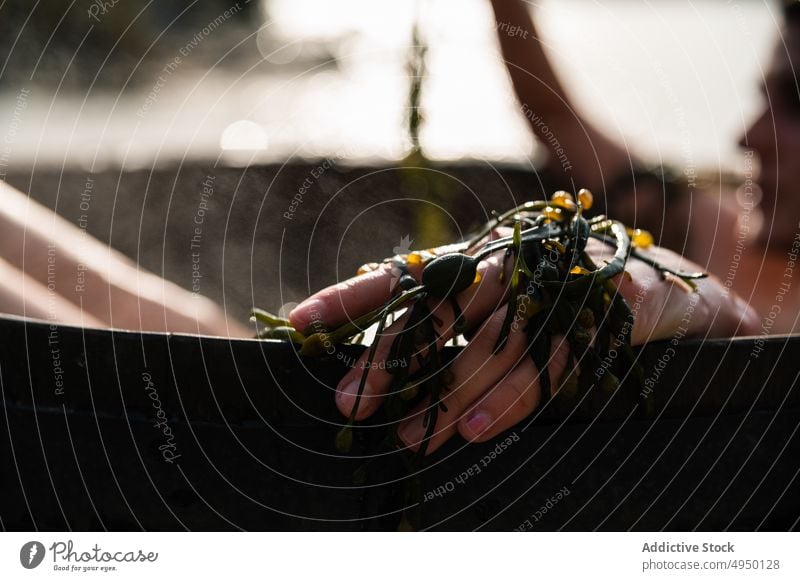
<instances>
[{"instance_id":1,"label":"second finger from left on seaweed-draped hand, crossed by thin strands","mask_svg":"<svg viewBox=\"0 0 800 581\"><path fill-rule=\"evenodd\" d=\"M507 289L507 283L500 281L500 269L503 265L503 257L491 256L478 265L478 272L481 279L478 283L459 294L458 302L464 318L469 321L481 321L497 308ZM434 318L434 329L439 335L436 348L441 349L444 343L455 335L454 313L449 301L431 300L432 315ZM394 367L399 362L386 361L391 350L397 333L401 332L408 321L409 313L404 314L400 319L390 325L381 337L376 337L378 345L372 363L385 362L389 367ZM438 319L439 322L435 322ZM496 334L495 334L496 337ZM366 382L362 391L362 400L358 404L356 419L366 418L380 406L381 396L386 394L392 383L393 375L389 370L380 366L374 366L368 361L369 352L362 354L356 365L339 382L336 394L336 404L339 410L346 416L352 412L357 400L358 389L362 375L366 374ZM411 358L411 369L414 372L417 368L416 361ZM386 366L384 366L386 367Z\"/></svg>"}]
</instances>

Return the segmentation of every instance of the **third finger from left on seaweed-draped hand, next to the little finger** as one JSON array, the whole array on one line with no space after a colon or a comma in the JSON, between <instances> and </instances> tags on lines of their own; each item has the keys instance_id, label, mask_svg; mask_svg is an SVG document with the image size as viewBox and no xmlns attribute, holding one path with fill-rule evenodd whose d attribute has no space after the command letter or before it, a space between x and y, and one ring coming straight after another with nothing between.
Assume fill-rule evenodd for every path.
<instances>
[{"instance_id":1,"label":"third finger from left on seaweed-draped hand, next to the little finger","mask_svg":"<svg viewBox=\"0 0 800 581\"><path fill-rule=\"evenodd\" d=\"M505 319L507 307L498 309L481 327L479 332L459 353L450 367L453 382L443 401L447 411L440 411L433 436L428 442L430 454L456 433L458 422L464 412L488 389L508 375L518 363L527 358L527 334L524 325L512 326L503 350L493 354L497 338ZM516 330L515 330L516 329ZM404 420L398 435L406 446L416 450L425 437L425 411L430 405L419 406Z\"/></svg>"}]
</instances>

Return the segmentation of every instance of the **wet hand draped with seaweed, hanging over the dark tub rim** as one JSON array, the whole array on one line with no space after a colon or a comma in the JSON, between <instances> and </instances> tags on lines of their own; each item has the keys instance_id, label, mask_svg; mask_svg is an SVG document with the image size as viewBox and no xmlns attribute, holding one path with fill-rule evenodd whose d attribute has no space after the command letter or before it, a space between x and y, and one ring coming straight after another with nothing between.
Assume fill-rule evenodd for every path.
<instances>
[{"instance_id":1,"label":"wet hand draped with seaweed, hanging over the dark tub rim","mask_svg":"<svg viewBox=\"0 0 800 581\"><path fill-rule=\"evenodd\" d=\"M446 252L447 249L440 249ZM612 250L602 242L590 239L587 253L596 264L610 258ZM674 270L702 270L677 254L657 247L642 252ZM501 270L507 268L503 252L481 261L481 279L458 295L464 316L474 331L470 341L449 367L452 379L442 400L447 411L438 414L434 435L427 453L431 453L456 432L468 441L485 441L515 425L533 412L541 398L539 372L527 354L528 341L524 324L512 325L505 348L493 354L503 325L507 307L503 305L508 279L501 281ZM411 274L419 280L422 266L410 266ZM634 324L631 341L647 341L672 336L679 328L686 335L706 337L729 336L754 331L758 326L755 313L741 299L728 294L718 280L696 281L697 293L683 288L683 283L662 280L650 265L631 258L626 273L613 282L620 294L632 306ZM384 304L391 295L396 274L391 265L375 265L366 274L328 287L298 305L289 318L297 329L305 329L314 321L337 326L355 319ZM429 299L440 336L441 349L453 337L454 314L447 301ZM406 317L407 315L404 315ZM386 362L404 317L387 327L377 345L375 362ZM567 365L569 345L563 337L554 337L548 362L551 390ZM337 387L336 403L349 416L367 364L367 353L354 365ZM370 416L381 405L392 380L385 367L373 365L358 407L356 420ZM401 423L398 435L410 448L417 449L423 440L423 417L429 405L423 401Z\"/></svg>"}]
</instances>

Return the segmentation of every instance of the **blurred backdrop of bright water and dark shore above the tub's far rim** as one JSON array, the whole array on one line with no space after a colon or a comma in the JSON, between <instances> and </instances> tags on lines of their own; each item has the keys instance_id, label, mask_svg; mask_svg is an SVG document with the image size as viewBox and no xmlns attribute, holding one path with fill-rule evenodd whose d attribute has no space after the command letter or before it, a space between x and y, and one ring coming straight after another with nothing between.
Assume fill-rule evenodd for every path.
<instances>
[{"instance_id":1,"label":"blurred backdrop of bright water and dark shore above the tub's far rim","mask_svg":"<svg viewBox=\"0 0 800 581\"><path fill-rule=\"evenodd\" d=\"M485 0L112 2L0 7L0 127L31 91L16 167L402 158L415 15L429 49L427 154L526 163L535 153ZM557 70L599 126L651 158L680 161L690 142L698 164L735 159L776 35L771 4L536 4Z\"/></svg>"}]
</instances>

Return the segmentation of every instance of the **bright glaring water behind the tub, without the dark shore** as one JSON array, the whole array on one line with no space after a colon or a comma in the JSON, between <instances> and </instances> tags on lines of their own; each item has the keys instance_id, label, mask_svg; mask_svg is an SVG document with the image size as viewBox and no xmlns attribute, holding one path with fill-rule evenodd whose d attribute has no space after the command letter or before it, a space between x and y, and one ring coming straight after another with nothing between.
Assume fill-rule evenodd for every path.
<instances>
[{"instance_id":1,"label":"bright glaring water behind the tub, without the dark shore","mask_svg":"<svg viewBox=\"0 0 800 581\"><path fill-rule=\"evenodd\" d=\"M426 151L438 159L530 159L535 146L499 60L488 0L422 5L430 45ZM772 3L538 5L537 26L557 70L598 126L645 158L737 165L736 141L761 105L758 80L777 35ZM133 168L220 154L232 163L400 158L414 7L411 0L271 0L258 47L279 65L274 72L181 71L143 117L136 112L147 87L120 100L33 92L10 162ZM336 67L308 58L320 47ZM0 131L15 99L0 96Z\"/></svg>"}]
</instances>

